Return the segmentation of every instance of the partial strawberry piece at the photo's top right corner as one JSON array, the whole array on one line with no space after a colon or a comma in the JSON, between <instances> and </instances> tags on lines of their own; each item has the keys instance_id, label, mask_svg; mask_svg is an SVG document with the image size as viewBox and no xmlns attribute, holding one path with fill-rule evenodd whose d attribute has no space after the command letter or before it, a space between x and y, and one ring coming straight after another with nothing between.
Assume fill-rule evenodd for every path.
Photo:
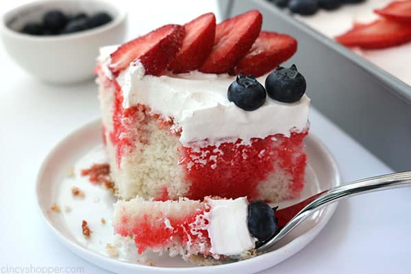
<instances>
[{"instance_id":1,"label":"partial strawberry piece at the photo's top right corner","mask_svg":"<svg viewBox=\"0 0 411 274\"><path fill-rule=\"evenodd\" d=\"M394 1L385 8L374 10L375 13L387 19L400 23L411 23L411 1Z\"/></svg>"}]
</instances>

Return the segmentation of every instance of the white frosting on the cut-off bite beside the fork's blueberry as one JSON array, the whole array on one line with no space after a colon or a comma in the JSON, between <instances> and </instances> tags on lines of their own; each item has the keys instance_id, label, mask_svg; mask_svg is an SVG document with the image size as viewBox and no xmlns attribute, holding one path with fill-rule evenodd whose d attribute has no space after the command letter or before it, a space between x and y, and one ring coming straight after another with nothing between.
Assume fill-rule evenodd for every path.
<instances>
[{"instance_id":1,"label":"white frosting on the cut-off bite beside the fork's blueberry","mask_svg":"<svg viewBox=\"0 0 411 274\"><path fill-rule=\"evenodd\" d=\"M208 200L210 251L214 254L235 256L253 249L256 239L247 227L247 199Z\"/></svg>"}]
</instances>

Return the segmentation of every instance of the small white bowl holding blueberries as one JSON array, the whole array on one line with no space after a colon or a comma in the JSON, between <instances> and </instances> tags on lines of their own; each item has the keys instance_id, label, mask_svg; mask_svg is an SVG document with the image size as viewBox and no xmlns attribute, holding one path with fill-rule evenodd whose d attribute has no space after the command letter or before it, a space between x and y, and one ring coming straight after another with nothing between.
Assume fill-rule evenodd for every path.
<instances>
[{"instance_id":1,"label":"small white bowl holding blueberries","mask_svg":"<svg viewBox=\"0 0 411 274\"><path fill-rule=\"evenodd\" d=\"M58 36L34 36L18 32L29 21L40 22L45 12L108 12L110 23ZM99 47L123 42L127 14L118 5L102 0L42 0L6 12L0 24L5 49L25 71L52 83L82 82L93 77Z\"/></svg>"}]
</instances>

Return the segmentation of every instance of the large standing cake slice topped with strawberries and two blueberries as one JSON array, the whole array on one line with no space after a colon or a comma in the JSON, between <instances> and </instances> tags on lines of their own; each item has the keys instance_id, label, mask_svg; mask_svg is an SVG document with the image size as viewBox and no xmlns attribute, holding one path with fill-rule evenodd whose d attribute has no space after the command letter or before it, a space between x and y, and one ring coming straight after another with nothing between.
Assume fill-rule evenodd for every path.
<instances>
[{"instance_id":1,"label":"large standing cake slice topped with strawberries and two blueberries","mask_svg":"<svg viewBox=\"0 0 411 274\"><path fill-rule=\"evenodd\" d=\"M295 66L269 81L297 41L261 25L256 10L218 25L204 14L101 49L103 138L119 197L299 195L310 99Z\"/></svg>"}]
</instances>

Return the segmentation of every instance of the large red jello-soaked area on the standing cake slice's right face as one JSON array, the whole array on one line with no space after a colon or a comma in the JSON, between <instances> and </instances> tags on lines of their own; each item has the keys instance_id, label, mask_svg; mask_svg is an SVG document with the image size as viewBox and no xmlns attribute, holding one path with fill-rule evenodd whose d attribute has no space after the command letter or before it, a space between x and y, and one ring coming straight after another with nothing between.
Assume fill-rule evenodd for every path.
<instances>
[{"instance_id":1,"label":"large red jello-soaked area on the standing cake slice's right face","mask_svg":"<svg viewBox=\"0 0 411 274\"><path fill-rule=\"evenodd\" d=\"M251 145L240 145L237 140L225 142L218 149L203 147L199 152L182 147L180 163L185 164L186 179L191 182L187 197L202 199L214 195L255 199L258 184L274 171L275 161L279 162L279 168L292 175L290 190L292 195L298 195L304 185L306 155L301 155L300 150L306 135L307 132L292 133L286 138L277 134L253 139ZM193 157L201 157L201 160L192 161Z\"/></svg>"}]
</instances>

